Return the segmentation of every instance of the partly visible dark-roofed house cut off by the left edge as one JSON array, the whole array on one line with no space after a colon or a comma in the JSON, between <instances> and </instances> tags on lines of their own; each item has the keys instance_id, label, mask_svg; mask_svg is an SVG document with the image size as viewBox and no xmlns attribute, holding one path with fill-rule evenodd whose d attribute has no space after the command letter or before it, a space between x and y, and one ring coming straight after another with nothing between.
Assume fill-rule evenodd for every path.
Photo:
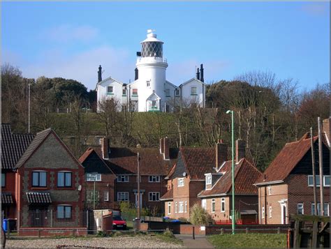
<instances>
[{"instance_id":1,"label":"partly visible dark-roofed house cut off by the left edge","mask_svg":"<svg viewBox=\"0 0 331 249\"><path fill-rule=\"evenodd\" d=\"M17 218L13 168L32 139L32 134L15 134L10 124L1 124L1 211L4 218Z\"/></svg>"}]
</instances>

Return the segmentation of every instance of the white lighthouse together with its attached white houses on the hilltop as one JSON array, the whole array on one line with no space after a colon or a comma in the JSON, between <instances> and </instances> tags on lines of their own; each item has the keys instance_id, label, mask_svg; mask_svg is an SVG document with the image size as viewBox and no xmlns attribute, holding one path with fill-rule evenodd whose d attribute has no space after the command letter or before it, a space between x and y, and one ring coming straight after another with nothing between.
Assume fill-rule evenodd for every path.
<instances>
[{"instance_id":1,"label":"white lighthouse together with its attached white houses on the hilltop","mask_svg":"<svg viewBox=\"0 0 331 249\"><path fill-rule=\"evenodd\" d=\"M96 84L98 111L103 100L113 98L122 110L134 112L173 112L175 108L195 105L205 107L205 83L203 64L196 77L179 86L165 77L168 63L163 58L163 42L156 38L153 30L147 30L147 38L141 42L137 52L135 81L129 84L108 77L102 80L101 66Z\"/></svg>"}]
</instances>

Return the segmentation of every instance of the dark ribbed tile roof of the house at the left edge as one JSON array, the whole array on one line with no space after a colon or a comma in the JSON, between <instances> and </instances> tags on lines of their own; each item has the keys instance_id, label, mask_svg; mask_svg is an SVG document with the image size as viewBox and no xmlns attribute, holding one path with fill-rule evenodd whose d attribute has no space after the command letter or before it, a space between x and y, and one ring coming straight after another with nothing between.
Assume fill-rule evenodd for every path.
<instances>
[{"instance_id":1,"label":"dark ribbed tile roof of the house at the left edge","mask_svg":"<svg viewBox=\"0 0 331 249\"><path fill-rule=\"evenodd\" d=\"M34 135L12 133L10 124L1 124L1 169L13 169Z\"/></svg>"}]
</instances>

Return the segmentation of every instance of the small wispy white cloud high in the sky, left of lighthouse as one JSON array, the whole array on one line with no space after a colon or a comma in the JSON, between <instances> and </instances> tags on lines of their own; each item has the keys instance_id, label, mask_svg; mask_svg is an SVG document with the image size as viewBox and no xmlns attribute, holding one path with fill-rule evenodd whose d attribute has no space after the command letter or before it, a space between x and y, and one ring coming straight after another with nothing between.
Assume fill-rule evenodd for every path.
<instances>
[{"instance_id":1,"label":"small wispy white cloud high in the sky, left of lighthouse","mask_svg":"<svg viewBox=\"0 0 331 249\"><path fill-rule=\"evenodd\" d=\"M42 38L52 40L55 42L79 42L93 40L98 36L98 29L89 25L73 26L71 24L61 24L57 27L53 27L47 31L44 31L41 35Z\"/></svg>"}]
</instances>

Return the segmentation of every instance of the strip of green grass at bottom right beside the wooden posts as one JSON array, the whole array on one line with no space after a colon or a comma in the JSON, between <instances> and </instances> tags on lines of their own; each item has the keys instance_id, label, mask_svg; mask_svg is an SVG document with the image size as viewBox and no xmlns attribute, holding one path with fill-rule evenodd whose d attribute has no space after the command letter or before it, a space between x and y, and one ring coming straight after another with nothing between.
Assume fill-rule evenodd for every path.
<instances>
[{"instance_id":1,"label":"strip of green grass at bottom right beside the wooden posts","mask_svg":"<svg viewBox=\"0 0 331 249\"><path fill-rule=\"evenodd\" d=\"M217 234L207 239L215 248L286 248L286 234Z\"/></svg>"}]
</instances>

